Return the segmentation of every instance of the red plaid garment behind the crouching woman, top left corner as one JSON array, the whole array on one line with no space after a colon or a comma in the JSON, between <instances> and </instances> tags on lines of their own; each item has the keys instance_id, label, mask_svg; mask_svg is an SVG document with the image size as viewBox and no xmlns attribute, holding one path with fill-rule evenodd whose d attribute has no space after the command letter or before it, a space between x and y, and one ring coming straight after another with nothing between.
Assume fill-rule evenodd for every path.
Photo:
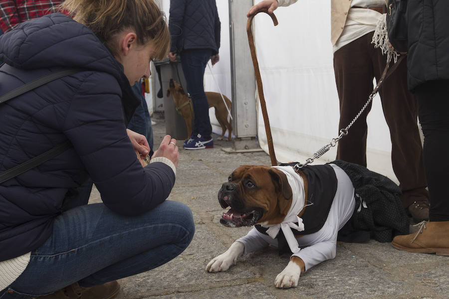
<instances>
[{"instance_id":1,"label":"red plaid garment behind the crouching woman, top left corner","mask_svg":"<svg viewBox=\"0 0 449 299\"><path fill-rule=\"evenodd\" d=\"M15 25L53 12L52 7L63 0L0 0L0 28L3 32Z\"/></svg>"}]
</instances>

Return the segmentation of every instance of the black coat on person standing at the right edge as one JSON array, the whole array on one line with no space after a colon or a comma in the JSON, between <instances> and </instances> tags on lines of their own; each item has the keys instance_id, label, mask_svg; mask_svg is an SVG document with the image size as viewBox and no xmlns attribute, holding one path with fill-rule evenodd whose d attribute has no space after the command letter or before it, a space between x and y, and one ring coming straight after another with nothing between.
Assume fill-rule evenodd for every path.
<instances>
[{"instance_id":1,"label":"black coat on person standing at the right edge","mask_svg":"<svg viewBox=\"0 0 449 299\"><path fill-rule=\"evenodd\" d=\"M409 89L449 79L449 1L408 0Z\"/></svg>"}]
</instances>

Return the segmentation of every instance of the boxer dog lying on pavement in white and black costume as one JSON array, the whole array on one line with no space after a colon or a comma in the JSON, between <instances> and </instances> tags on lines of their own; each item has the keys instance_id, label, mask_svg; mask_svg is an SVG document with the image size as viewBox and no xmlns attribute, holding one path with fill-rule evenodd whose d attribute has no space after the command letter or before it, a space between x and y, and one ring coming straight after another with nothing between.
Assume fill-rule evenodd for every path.
<instances>
[{"instance_id":1,"label":"boxer dog lying on pavement in white and black costume","mask_svg":"<svg viewBox=\"0 0 449 299\"><path fill-rule=\"evenodd\" d=\"M301 273L335 258L337 233L355 213L355 196L357 204L360 204L358 212L367 208L366 202L368 205L371 203L369 196L374 194L373 185L364 177L363 187L357 184L354 189L345 170L351 175L357 173L359 177L361 172L349 171L349 164L355 165L337 160L325 165L309 165L298 171L292 166L242 165L235 169L218 192L222 208L230 207L227 212L223 212L220 223L227 227L254 224L259 227L253 227L246 236L232 243L225 253L212 259L206 270L226 271L242 255L268 245L281 246L283 243L293 255L285 269L276 276L274 284L277 288L296 287ZM402 227L406 230L404 233L408 233L408 218L399 204L398 186L387 177L364 169L370 175L376 175L377 182L388 181L388 192L393 196L389 198L393 198L392 201L399 206L395 210L394 204L377 205L382 209L379 214L384 209L398 211L399 216L404 214L404 219L398 218L401 218ZM362 193L368 190L366 188L370 191ZM382 191L378 194L385 194L387 189L382 188L384 186L379 187ZM355 194L354 190L365 196L366 201L360 200L359 203L361 196ZM282 242L281 235L285 238Z\"/></svg>"}]
</instances>

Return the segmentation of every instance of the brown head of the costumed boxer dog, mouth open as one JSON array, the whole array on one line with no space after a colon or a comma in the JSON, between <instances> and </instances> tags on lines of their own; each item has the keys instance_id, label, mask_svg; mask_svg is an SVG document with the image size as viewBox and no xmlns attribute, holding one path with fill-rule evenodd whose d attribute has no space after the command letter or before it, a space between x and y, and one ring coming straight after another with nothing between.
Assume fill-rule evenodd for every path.
<instances>
[{"instance_id":1,"label":"brown head of the costumed boxer dog, mouth open","mask_svg":"<svg viewBox=\"0 0 449 299\"><path fill-rule=\"evenodd\" d=\"M282 171L268 166L242 165L222 185L218 199L222 208L230 207L220 219L225 226L278 224L291 206L292 191Z\"/></svg>"}]
</instances>

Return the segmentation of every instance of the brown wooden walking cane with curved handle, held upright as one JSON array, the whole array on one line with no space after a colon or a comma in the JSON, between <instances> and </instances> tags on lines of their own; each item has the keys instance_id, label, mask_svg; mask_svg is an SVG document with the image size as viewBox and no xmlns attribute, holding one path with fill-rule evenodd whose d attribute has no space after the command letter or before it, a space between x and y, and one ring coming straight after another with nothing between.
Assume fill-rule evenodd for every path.
<instances>
[{"instance_id":1,"label":"brown wooden walking cane with curved handle, held upright","mask_svg":"<svg viewBox=\"0 0 449 299\"><path fill-rule=\"evenodd\" d=\"M266 139L268 142L268 152L270 153L271 165L276 166L277 161L276 156L274 154L273 139L271 137L270 121L268 120L268 114L266 112L265 98L263 96L262 78L260 77L259 63L257 62L257 56L255 54L254 38L252 36L251 30L252 18L259 12L267 13L273 20L274 26L277 26L277 19L274 13L268 12L267 8L262 8L254 12L254 14L250 15L248 17L248 21L246 22L246 33L248 34L249 50L251 52L252 64L254 65L254 73L257 82L257 91L259 93L260 107L262 108L263 123L265 124Z\"/></svg>"}]
</instances>

